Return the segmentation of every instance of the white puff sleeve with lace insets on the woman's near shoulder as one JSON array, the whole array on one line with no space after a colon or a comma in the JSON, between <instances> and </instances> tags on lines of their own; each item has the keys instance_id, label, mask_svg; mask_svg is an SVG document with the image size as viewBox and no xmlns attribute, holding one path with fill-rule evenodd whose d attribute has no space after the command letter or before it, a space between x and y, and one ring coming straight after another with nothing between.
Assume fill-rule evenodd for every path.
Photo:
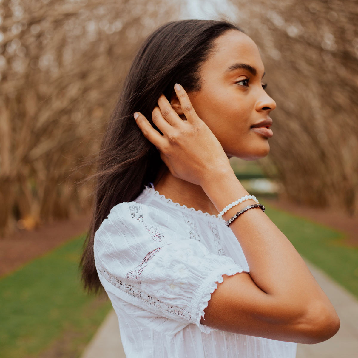
<instances>
[{"instance_id":1,"label":"white puff sleeve with lace insets on the woman's near shoulder","mask_svg":"<svg viewBox=\"0 0 358 358\"><path fill-rule=\"evenodd\" d=\"M189 228L154 207L116 205L95 234L98 276L111 300L125 300L136 318L165 334L200 324L222 275L249 272L231 257L190 239ZM205 319L205 318L204 318Z\"/></svg>"}]
</instances>

